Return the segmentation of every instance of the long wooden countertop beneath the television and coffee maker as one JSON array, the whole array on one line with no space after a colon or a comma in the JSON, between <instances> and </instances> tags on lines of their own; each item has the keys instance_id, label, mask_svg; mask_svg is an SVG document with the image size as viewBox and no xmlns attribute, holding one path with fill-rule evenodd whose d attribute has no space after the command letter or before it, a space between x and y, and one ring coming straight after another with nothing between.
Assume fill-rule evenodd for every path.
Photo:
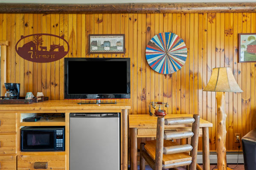
<instances>
[{"instance_id":1,"label":"long wooden countertop beneath the television and coffee maker","mask_svg":"<svg viewBox=\"0 0 256 170\"><path fill-rule=\"evenodd\" d=\"M32 103L28 105L0 105L0 113L20 113L27 111L47 111L47 112L69 112L69 111L117 111L131 109L130 102L117 102L116 104L89 104L79 105L81 100L49 100L45 102ZM25 112L26 113L26 112Z\"/></svg>"}]
</instances>

